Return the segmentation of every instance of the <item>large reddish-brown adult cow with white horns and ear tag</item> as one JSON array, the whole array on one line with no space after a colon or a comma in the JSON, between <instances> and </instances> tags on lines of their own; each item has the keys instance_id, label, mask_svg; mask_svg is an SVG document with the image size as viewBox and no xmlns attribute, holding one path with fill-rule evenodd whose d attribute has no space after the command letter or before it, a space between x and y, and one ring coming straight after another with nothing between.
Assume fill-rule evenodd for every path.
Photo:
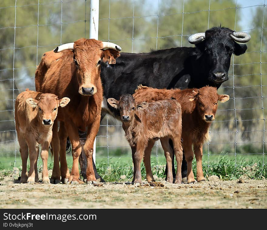
<instances>
[{"instance_id":1,"label":"large reddish-brown adult cow with white horns and ear tag","mask_svg":"<svg viewBox=\"0 0 267 230\"><path fill-rule=\"evenodd\" d=\"M108 48L108 49L106 49ZM106 50L104 50L106 49ZM121 48L110 42L95 39L79 39L74 43L63 44L53 51L46 52L35 72L35 88L41 92L50 92L59 97L67 96L70 103L67 108L59 110L59 137L57 122L53 126L52 148L54 158L60 155L60 170L57 160L54 164L51 183L60 179L63 183L78 183L79 155L81 145L78 130L88 135L84 145L87 157L87 183L96 181L93 170L93 143L100 125L102 103L102 83L100 79L100 62L115 63ZM64 125L65 124L65 125ZM66 139L72 144L73 166L71 173L66 163ZM60 140L59 140L60 138ZM59 144L60 143L60 144Z\"/></svg>"}]
</instances>

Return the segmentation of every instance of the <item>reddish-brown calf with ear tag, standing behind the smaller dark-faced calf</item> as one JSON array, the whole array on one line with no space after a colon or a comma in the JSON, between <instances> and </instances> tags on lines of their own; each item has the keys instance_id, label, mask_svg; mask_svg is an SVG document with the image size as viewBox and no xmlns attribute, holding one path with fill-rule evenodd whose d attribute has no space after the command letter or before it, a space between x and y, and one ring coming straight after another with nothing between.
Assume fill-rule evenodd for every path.
<instances>
[{"instance_id":1,"label":"reddish-brown calf with ear tag, standing behind the smaller dark-faced calf","mask_svg":"<svg viewBox=\"0 0 267 230\"><path fill-rule=\"evenodd\" d=\"M134 98L137 102L154 102L174 97L182 107L182 138L184 155L187 161L188 183L195 182L192 171L194 154L197 160L197 181L205 180L202 170L202 146L209 139L208 130L211 121L215 119L217 102L224 103L229 100L228 95L217 94L215 87L202 87L200 89L154 89L139 86ZM192 151L194 145L194 152ZM144 162L150 164L150 162Z\"/></svg>"}]
</instances>

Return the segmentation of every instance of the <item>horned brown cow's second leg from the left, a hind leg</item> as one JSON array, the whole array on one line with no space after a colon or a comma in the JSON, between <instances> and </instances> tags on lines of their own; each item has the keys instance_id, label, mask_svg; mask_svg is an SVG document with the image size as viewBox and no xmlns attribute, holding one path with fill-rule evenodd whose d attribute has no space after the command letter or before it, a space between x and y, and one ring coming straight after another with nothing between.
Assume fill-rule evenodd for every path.
<instances>
[{"instance_id":1,"label":"horned brown cow's second leg from the left, a hind leg","mask_svg":"<svg viewBox=\"0 0 267 230\"><path fill-rule=\"evenodd\" d=\"M59 135L59 142L60 142L59 159L60 159L61 181L63 184L67 184L69 181L69 177L70 177L67 160L66 160L66 143L67 143L68 131L63 121L60 121L59 123L58 135Z\"/></svg>"}]
</instances>

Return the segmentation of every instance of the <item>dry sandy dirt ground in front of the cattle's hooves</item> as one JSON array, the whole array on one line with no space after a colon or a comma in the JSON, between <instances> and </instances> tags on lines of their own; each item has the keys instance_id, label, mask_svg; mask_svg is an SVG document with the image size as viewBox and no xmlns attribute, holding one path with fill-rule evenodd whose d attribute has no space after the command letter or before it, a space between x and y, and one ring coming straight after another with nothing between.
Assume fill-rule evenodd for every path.
<instances>
[{"instance_id":1,"label":"dry sandy dirt ground in front of the cattle's hooves","mask_svg":"<svg viewBox=\"0 0 267 230\"><path fill-rule=\"evenodd\" d=\"M211 179L210 179L211 180ZM0 208L267 208L267 180L212 180L152 186L19 184L1 180Z\"/></svg>"}]
</instances>

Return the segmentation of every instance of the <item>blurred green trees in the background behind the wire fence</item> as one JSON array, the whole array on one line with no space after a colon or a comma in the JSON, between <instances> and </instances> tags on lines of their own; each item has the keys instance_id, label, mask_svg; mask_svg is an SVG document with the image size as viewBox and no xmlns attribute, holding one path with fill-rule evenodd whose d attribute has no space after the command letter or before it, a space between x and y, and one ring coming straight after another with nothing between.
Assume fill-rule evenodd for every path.
<instances>
[{"instance_id":1,"label":"blurred green trees in the background behind the wire fence","mask_svg":"<svg viewBox=\"0 0 267 230\"><path fill-rule=\"evenodd\" d=\"M13 88L14 98L26 88L35 89L34 74L42 54L58 44L89 38L90 1L20 0L16 3L16 9L13 1L0 3L1 141L14 140L14 132L1 136L2 131L15 129L13 121L5 122L14 117ZM99 19L99 40L118 43L123 52L149 52L156 48L192 46L187 41L190 34L220 24L238 31L241 15L234 0L166 0L159 1L159 5L153 0L101 0ZM233 135L227 134L234 138L237 125L243 141L256 142L255 139L263 138L265 110L262 107L267 93L267 32L262 29L267 23L266 7L258 6L246 20L252 28L247 31L252 36L248 50L244 55L232 57L231 63L234 60L235 65L230 66L229 80L219 89L230 98L235 96L235 101L230 99L220 105L220 110L228 110L227 116L225 111L218 111L216 120L227 121L214 123L212 129L232 131ZM256 130L260 135L255 135Z\"/></svg>"}]
</instances>

